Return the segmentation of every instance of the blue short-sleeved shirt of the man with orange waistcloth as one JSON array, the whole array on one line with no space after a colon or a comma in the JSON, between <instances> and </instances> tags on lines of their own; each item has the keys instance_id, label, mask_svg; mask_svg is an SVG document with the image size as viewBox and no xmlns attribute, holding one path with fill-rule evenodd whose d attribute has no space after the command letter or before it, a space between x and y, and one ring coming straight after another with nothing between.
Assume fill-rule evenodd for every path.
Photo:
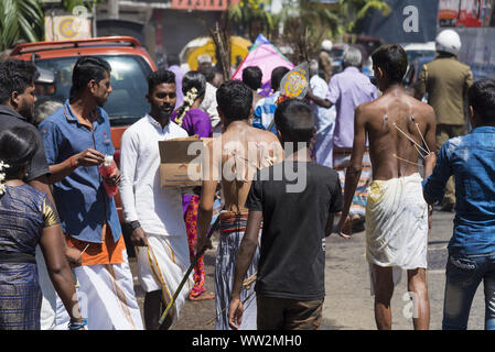
<instances>
[{"instance_id":1,"label":"blue short-sleeved shirt of the man with orange waistcloth","mask_svg":"<svg viewBox=\"0 0 495 352\"><path fill-rule=\"evenodd\" d=\"M49 165L60 164L87 148L114 155L108 114L97 107L93 131L73 113L68 100L40 124ZM103 242L103 226L108 222L114 240L121 228L114 198L105 191L98 166L79 166L53 185L53 197L61 226L68 235L87 242Z\"/></svg>"}]
</instances>

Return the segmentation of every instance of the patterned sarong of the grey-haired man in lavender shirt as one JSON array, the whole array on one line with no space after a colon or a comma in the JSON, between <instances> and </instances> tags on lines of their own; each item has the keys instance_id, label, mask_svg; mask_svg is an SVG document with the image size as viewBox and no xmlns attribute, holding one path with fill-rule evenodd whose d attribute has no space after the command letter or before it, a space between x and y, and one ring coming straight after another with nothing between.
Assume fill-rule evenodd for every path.
<instances>
[{"instance_id":1,"label":"patterned sarong of the grey-haired man in lavender shirt","mask_svg":"<svg viewBox=\"0 0 495 352\"><path fill-rule=\"evenodd\" d=\"M353 150L351 147L335 147L333 151L333 168L338 173L342 191L345 186L345 169L351 162ZM368 187L372 184L372 161L369 158L369 151L366 148L363 155L363 169L361 172L359 183L354 193L353 204L351 205L349 215L365 217L366 201L368 199Z\"/></svg>"}]
</instances>

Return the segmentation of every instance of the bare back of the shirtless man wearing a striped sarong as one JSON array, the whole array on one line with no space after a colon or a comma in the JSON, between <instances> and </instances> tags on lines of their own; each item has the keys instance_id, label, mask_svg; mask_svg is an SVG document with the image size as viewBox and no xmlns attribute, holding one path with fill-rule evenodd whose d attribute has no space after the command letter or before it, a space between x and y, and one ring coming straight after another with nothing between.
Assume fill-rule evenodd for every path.
<instances>
[{"instance_id":1,"label":"bare back of the shirtless man wearing a striped sarong","mask_svg":"<svg viewBox=\"0 0 495 352\"><path fill-rule=\"evenodd\" d=\"M225 210L240 212L252 178L260 168L281 162L283 151L277 136L245 123L233 123L222 136L222 190Z\"/></svg>"}]
</instances>

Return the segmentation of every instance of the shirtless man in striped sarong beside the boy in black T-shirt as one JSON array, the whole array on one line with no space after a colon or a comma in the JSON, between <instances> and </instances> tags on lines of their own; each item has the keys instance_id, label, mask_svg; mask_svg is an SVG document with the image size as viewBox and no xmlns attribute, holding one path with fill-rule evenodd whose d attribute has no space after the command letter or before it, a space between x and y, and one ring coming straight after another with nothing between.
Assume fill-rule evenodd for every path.
<instances>
[{"instance_id":1,"label":"shirtless man in striped sarong beside the boy in black T-shirt","mask_svg":"<svg viewBox=\"0 0 495 352\"><path fill-rule=\"evenodd\" d=\"M248 209L245 207L252 177L259 168L282 160L282 147L273 133L251 128L248 119L252 113L252 90L244 82L229 80L216 92L218 114L224 133L208 146L209 168L205 172L197 217L196 253L212 249L206 237L212 221L213 201L218 180L222 183L225 202L220 212L220 238L215 264L216 329L227 330L228 304L234 280L237 250L246 230ZM258 251L246 277L257 271ZM241 329L256 330L256 297L254 285L240 299L245 302Z\"/></svg>"}]
</instances>

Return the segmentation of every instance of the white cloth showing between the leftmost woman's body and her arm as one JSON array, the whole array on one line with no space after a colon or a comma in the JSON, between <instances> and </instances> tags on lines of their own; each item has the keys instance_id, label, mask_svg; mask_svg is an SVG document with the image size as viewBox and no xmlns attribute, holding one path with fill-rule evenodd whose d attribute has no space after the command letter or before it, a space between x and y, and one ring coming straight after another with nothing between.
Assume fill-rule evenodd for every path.
<instances>
[{"instance_id":1,"label":"white cloth showing between the leftmost woman's body and her arm","mask_svg":"<svg viewBox=\"0 0 495 352\"><path fill-rule=\"evenodd\" d=\"M53 330L55 329L55 311L56 311L56 292L50 278L46 263L41 251L40 245L36 245L36 265L39 283L42 293L41 312L40 312L40 329ZM65 309L65 308L64 308Z\"/></svg>"}]
</instances>

